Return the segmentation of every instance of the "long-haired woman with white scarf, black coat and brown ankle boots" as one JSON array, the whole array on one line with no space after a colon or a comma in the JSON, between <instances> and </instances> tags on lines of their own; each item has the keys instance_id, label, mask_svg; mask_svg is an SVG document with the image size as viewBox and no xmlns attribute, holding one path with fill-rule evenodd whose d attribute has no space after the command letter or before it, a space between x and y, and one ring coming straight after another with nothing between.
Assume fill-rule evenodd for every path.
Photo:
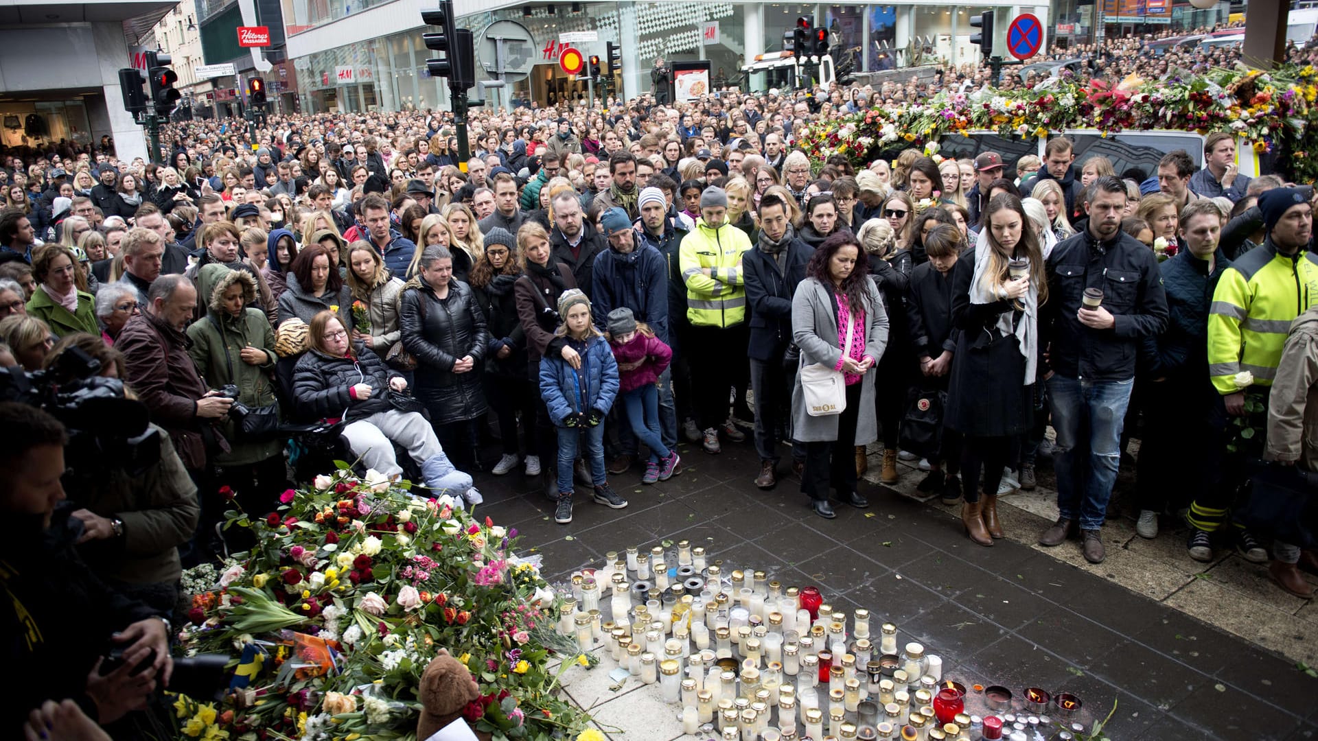
<instances>
[{"instance_id":1,"label":"long-haired woman with white scarf, black coat and brown ankle boots","mask_svg":"<svg viewBox=\"0 0 1318 741\"><path fill-rule=\"evenodd\" d=\"M952 322L961 335L945 423L962 435L961 521L971 541L991 546L1003 537L998 484L1011 443L1033 423L1039 306L1048 301L1048 282L1019 198L994 196L983 224L979 241L952 269Z\"/></svg>"}]
</instances>

